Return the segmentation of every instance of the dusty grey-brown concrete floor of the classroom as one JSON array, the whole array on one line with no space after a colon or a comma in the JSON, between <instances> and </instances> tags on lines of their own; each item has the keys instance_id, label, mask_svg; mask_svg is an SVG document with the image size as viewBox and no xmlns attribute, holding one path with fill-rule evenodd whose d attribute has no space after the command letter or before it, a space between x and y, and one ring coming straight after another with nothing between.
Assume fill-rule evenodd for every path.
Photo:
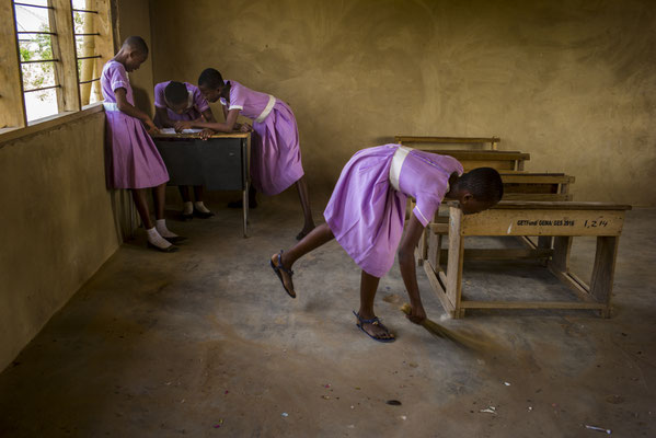
<instances>
[{"instance_id":1,"label":"dusty grey-brown concrete floor of the classroom","mask_svg":"<svg viewBox=\"0 0 656 438\"><path fill-rule=\"evenodd\" d=\"M656 210L629 215L610 320L449 320L419 269L429 318L487 343L469 351L404 319L398 266L377 297L398 341L360 333L359 270L335 242L297 264L287 298L268 257L300 228L292 197L254 210L246 240L239 211L214 207L170 222L189 238L176 254L139 231L51 319L0 374L1 437L656 436ZM592 245L575 239L575 272ZM473 295L568 295L530 263L468 264L464 279Z\"/></svg>"}]
</instances>

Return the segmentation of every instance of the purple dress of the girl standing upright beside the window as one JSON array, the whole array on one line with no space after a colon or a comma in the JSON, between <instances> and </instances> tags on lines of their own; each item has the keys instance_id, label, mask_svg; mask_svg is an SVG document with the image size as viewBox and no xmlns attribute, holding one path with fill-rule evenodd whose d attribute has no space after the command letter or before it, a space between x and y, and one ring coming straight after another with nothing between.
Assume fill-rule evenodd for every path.
<instances>
[{"instance_id":1,"label":"purple dress of the girl standing upright beside the window","mask_svg":"<svg viewBox=\"0 0 656 438\"><path fill-rule=\"evenodd\" d=\"M112 155L108 183L114 188L156 187L169 181L169 172L157 147L141 120L118 111L114 91L126 90L126 97L135 104L127 71L120 62L105 64L101 74L101 90L107 118L106 137Z\"/></svg>"}]
</instances>

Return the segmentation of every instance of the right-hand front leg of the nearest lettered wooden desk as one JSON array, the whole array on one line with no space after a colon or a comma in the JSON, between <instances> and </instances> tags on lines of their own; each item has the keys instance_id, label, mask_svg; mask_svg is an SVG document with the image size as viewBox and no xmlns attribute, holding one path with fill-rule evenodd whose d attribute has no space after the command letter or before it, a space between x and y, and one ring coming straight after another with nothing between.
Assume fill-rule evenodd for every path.
<instances>
[{"instance_id":1,"label":"right-hand front leg of the nearest lettered wooden desk","mask_svg":"<svg viewBox=\"0 0 656 438\"><path fill-rule=\"evenodd\" d=\"M618 255L618 244L620 238L598 237L597 253L595 254L595 267L592 268L592 278L590 281L590 293L598 302L606 304L601 310L602 318L610 316L610 297L615 273L615 258Z\"/></svg>"}]
</instances>

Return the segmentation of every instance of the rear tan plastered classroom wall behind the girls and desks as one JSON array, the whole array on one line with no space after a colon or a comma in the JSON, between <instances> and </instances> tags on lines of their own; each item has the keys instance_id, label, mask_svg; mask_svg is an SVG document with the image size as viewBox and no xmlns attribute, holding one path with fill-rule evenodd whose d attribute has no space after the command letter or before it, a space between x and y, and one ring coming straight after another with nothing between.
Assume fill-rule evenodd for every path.
<instances>
[{"instance_id":1,"label":"rear tan plastered classroom wall behind the girls and desks","mask_svg":"<svg viewBox=\"0 0 656 438\"><path fill-rule=\"evenodd\" d=\"M579 200L656 205L651 0L150 5L154 82L211 66L287 101L311 189L394 135L496 135Z\"/></svg>"}]
</instances>

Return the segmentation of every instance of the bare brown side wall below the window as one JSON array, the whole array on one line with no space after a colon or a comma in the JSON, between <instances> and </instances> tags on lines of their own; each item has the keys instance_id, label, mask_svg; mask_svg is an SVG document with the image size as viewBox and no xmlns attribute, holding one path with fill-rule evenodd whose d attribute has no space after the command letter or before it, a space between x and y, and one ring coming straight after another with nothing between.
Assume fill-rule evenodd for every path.
<instances>
[{"instance_id":1,"label":"bare brown side wall below the window","mask_svg":"<svg viewBox=\"0 0 656 438\"><path fill-rule=\"evenodd\" d=\"M120 244L104 113L0 142L0 370Z\"/></svg>"}]
</instances>

